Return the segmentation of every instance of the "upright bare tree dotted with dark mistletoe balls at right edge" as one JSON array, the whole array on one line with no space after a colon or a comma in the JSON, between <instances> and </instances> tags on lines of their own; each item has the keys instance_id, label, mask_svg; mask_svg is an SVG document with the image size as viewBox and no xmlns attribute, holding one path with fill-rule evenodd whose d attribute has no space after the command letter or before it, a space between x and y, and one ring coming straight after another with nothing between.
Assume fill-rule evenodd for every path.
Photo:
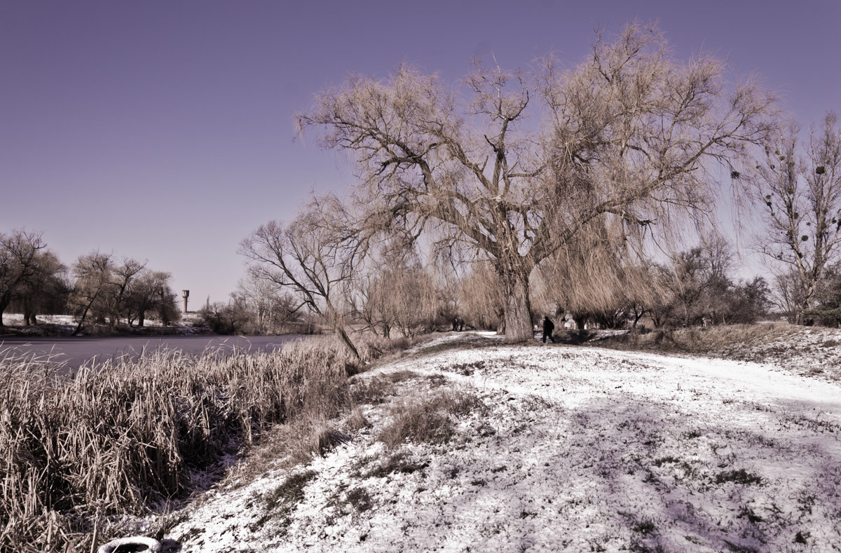
<instances>
[{"instance_id":1,"label":"upright bare tree dotted with dark mistletoe balls at right edge","mask_svg":"<svg viewBox=\"0 0 841 553\"><path fill-rule=\"evenodd\" d=\"M799 134L794 123L775 134L764 145L754 175L745 180L750 197L764 205L759 250L785 275L780 281L785 290L780 292L786 301L796 298L794 319L802 323L801 313L814 306L818 282L838 260L841 244L838 116L827 113L821 126L812 128L805 152ZM791 288L791 276L797 277L799 290Z\"/></svg>"}]
</instances>

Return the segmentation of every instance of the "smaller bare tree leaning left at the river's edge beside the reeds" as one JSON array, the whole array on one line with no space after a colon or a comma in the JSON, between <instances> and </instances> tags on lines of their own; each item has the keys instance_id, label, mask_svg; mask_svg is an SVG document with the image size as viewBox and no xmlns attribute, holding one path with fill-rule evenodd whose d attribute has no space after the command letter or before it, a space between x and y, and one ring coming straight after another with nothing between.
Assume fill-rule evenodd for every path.
<instances>
[{"instance_id":1,"label":"smaller bare tree leaning left at the river's edge beside the reeds","mask_svg":"<svg viewBox=\"0 0 841 553\"><path fill-rule=\"evenodd\" d=\"M341 206L316 200L292 221L262 224L241 242L252 274L292 290L299 304L293 313L308 308L325 319L353 356L359 353L345 330L352 252L337 234L335 220L343 219ZM335 219L334 219L335 218Z\"/></svg>"}]
</instances>

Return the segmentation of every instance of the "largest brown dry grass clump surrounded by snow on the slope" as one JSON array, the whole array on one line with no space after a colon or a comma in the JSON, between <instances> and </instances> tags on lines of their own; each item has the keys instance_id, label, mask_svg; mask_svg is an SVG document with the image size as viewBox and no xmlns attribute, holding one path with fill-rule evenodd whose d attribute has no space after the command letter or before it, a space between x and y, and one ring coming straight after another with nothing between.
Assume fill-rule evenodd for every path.
<instances>
[{"instance_id":1,"label":"largest brown dry grass clump surrounded by snow on the slope","mask_svg":"<svg viewBox=\"0 0 841 553\"><path fill-rule=\"evenodd\" d=\"M454 433L453 417L479 408L478 398L464 392L436 392L400 402L391 408L392 422L378 435L389 448L406 441L446 443Z\"/></svg>"}]
</instances>

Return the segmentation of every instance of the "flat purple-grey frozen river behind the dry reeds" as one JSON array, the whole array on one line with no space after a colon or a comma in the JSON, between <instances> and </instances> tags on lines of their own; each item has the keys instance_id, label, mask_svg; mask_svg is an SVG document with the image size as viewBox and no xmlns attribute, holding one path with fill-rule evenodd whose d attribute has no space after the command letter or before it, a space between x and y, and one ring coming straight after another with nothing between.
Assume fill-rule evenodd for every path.
<instances>
[{"instance_id":1,"label":"flat purple-grey frozen river behind the dry reeds","mask_svg":"<svg viewBox=\"0 0 841 553\"><path fill-rule=\"evenodd\" d=\"M278 350L306 334L280 336L127 336L127 337L51 337L0 339L0 362L9 358L33 359L59 365L63 371L76 371L85 363L98 363L127 356L136 359L142 351L182 350L200 355L204 350Z\"/></svg>"}]
</instances>

